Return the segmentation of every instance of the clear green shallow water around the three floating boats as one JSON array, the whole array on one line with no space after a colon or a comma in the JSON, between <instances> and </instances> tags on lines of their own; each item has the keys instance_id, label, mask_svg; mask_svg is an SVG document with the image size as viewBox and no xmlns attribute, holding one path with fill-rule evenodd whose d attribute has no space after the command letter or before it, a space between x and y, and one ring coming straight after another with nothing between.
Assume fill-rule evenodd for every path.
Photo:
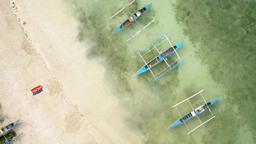
<instances>
[{"instance_id":1,"label":"clear green shallow water around the three floating boats","mask_svg":"<svg viewBox=\"0 0 256 144\"><path fill-rule=\"evenodd\" d=\"M130 1L68 2L80 21L77 38L91 45L86 57L105 60L106 83L127 110L121 117L131 133L141 131L145 143L255 143L253 1L154 1L148 15L155 22L129 42L125 31L112 34L120 23L110 16ZM134 3L129 10L138 8ZM128 15L124 10L118 17L124 21ZM149 20L143 15L138 22L144 26ZM127 27L132 34L138 30L135 23ZM172 44L187 39L178 50L187 61L156 82L149 72L133 77L143 65L136 52L166 32ZM207 101L223 98L211 107L216 118L191 135L184 125L167 130L178 119L172 105L201 89ZM191 102L194 107L203 103L200 97ZM182 114L191 110L188 104L178 108ZM200 116L210 117L209 112ZM192 129L199 122L192 119L188 125Z\"/></svg>"}]
</instances>

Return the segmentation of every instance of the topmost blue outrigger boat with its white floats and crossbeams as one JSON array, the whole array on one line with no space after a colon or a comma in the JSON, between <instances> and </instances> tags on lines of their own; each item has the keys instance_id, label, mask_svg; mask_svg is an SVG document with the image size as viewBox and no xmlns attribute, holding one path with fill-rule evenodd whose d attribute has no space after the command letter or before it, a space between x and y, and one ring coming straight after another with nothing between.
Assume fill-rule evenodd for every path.
<instances>
[{"instance_id":1,"label":"topmost blue outrigger boat with its white floats and crossbeams","mask_svg":"<svg viewBox=\"0 0 256 144\"><path fill-rule=\"evenodd\" d=\"M121 10L119 10L118 11L118 13L116 13L116 14L114 14L113 16L111 16L110 17L110 19L112 19L113 17L116 17L117 18L117 20L121 23L121 25L117 28L117 30L115 30L113 33L116 33L116 32L118 32L118 31L121 31L122 29L125 29L127 26L129 26L132 22L136 22L136 24L139 26L139 28L140 28L140 30L137 32L137 33L135 33L134 35L131 35L126 29L125 29L125 31L126 31L126 33L130 36L130 38L128 39L128 40L126 40L126 41L129 41L129 40L131 40L133 37L135 37L135 35L137 35L139 32L141 32L144 28L146 28L146 27L148 27L152 22L154 22L155 20L150 20L150 18L149 18L149 16L148 16L148 14L146 13L146 11L151 7L151 5L153 4L153 3L150 3L149 5L147 5L146 7L141 7L141 4L139 4L140 5L140 7L141 7L141 9L139 9L139 10L136 10L134 13L131 13L130 12L130 10L129 9L127 9L127 7L129 6L129 5L131 5L133 2L137 2L138 4L139 4L139 2L137 1L137 0L133 0L131 3L129 3L129 4L127 4L124 8L122 8ZM127 19L127 20L125 20L125 22L121 22L119 19L118 19L118 17L117 17L117 14L119 14L122 10L124 10L124 9L126 9L129 13L130 13L130 17ZM150 20L150 22L146 25L146 26L144 26L144 27L141 27L140 25L139 25L139 23L136 21L137 19L138 19L138 17L140 17L141 15L143 15L143 14L146 14L147 15L147 17L148 17L148 19Z\"/></svg>"}]
</instances>

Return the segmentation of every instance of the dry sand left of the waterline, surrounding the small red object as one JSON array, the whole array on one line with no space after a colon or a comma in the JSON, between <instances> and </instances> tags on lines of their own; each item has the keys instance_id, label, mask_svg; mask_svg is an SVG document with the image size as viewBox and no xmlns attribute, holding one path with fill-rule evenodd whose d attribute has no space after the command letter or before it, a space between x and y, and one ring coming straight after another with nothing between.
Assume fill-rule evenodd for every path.
<instances>
[{"instance_id":1,"label":"dry sand left of the waterline, surrounding the small red object","mask_svg":"<svg viewBox=\"0 0 256 144\"><path fill-rule=\"evenodd\" d=\"M10 4L13 4L10 2ZM16 16L11 11L11 5L1 2L1 29L2 49L1 49L1 75L5 79L1 80L3 85L1 90L2 113L9 113L9 120L21 118L21 122L15 127L18 133L24 133L16 143L66 143L88 142L97 143L90 134L88 124L79 116L77 110L68 104L61 85L56 77L50 73L49 62L46 61L44 53L40 49L37 41L27 32L26 21L24 26L17 13ZM19 13L22 10L16 5L13 7ZM8 19L8 20L7 20ZM31 24L30 23L30 24ZM4 41L4 43L3 43ZM21 49L22 48L22 49ZM47 83L50 82L50 85ZM44 91L38 95L32 95L30 89L41 83ZM49 87L59 88L48 89ZM53 93L53 94L51 94ZM57 97L62 95L62 97ZM61 109L63 108L63 110ZM65 110L66 109L66 110ZM57 110L57 112L56 112ZM75 119L69 116L75 117ZM57 117L56 117L57 116ZM72 121L79 123L73 125ZM65 125L65 127L62 127ZM73 126L77 131L83 131L80 135L74 135L68 128ZM85 130L85 131L84 131ZM80 140L74 140L80 137ZM83 137L86 137L84 140Z\"/></svg>"}]
</instances>

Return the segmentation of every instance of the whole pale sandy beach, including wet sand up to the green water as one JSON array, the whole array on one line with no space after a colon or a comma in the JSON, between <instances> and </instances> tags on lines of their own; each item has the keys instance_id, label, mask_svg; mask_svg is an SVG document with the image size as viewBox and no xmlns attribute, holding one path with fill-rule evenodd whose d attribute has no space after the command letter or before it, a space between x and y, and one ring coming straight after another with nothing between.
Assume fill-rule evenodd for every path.
<instances>
[{"instance_id":1,"label":"whole pale sandy beach, including wet sand up to the green water","mask_svg":"<svg viewBox=\"0 0 256 144\"><path fill-rule=\"evenodd\" d=\"M21 119L15 130L24 134L16 143L139 141L124 136L121 108L104 89L103 59L85 58L88 45L75 41L78 24L61 1L0 7L0 112ZM32 95L38 85L43 92Z\"/></svg>"}]
</instances>

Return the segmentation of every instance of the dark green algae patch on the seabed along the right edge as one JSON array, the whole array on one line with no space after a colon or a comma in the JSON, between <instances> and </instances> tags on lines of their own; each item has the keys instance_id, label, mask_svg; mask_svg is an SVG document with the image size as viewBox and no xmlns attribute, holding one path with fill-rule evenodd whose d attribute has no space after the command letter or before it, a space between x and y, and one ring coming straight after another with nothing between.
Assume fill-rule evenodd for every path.
<instances>
[{"instance_id":1,"label":"dark green algae patch on the seabed along the right edge","mask_svg":"<svg viewBox=\"0 0 256 144\"><path fill-rule=\"evenodd\" d=\"M173 7L184 34L200 44L196 56L225 89L219 125L203 143L256 143L255 1L177 0Z\"/></svg>"}]
</instances>

